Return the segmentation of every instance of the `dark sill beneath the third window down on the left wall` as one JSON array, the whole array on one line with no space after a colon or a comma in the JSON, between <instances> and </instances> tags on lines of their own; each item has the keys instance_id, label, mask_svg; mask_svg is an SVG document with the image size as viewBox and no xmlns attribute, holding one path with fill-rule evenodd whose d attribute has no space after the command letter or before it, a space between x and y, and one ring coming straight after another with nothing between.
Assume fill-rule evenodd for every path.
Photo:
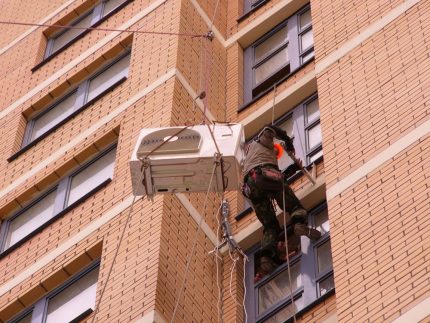
<instances>
[{"instance_id":1,"label":"dark sill beneath the third window down on the left wall","mask_svg":"<svg viewBox=\"0 0 430 323\"><path fill-rule=\"evenodd\" d=\"M105 188L110 182L112 182L112 178L109 178L109 179L105 180L104 182L100 183L98 186L96 186L95 188L93 188L91 191L89 191L87 194L85 194L84 196L82 196L80 199L78 199L74 203L72 203L69 206L67 206L65 209L63 209L60 212L58 212L58 214L56 214L54 217L52 217L49 221L43 223L40 227L38 227L34 231L30 232L28 235L26 235L24 238L22 238L21 240L19 240L17 243L15 243L14 245L10 246L8 249L6 249L3 252L1 252L0 253L0 259L6 257L8 254L10 254L14 250L18 249L25 242L27 242L28 240L30 240L31 238L33 238L34 236L36 236L37 234L39 234L40 232L42 232L45 228L47 228L48 226L50 226L52 223L54 223L55 221L57 221L59 218L61 218L64 214L70 212L73 208L75 208L79 204L83 203L91 195L93 195L96 192L98 192L98 191L102 190L103 188Z\"/></svg>"}]
</instances>

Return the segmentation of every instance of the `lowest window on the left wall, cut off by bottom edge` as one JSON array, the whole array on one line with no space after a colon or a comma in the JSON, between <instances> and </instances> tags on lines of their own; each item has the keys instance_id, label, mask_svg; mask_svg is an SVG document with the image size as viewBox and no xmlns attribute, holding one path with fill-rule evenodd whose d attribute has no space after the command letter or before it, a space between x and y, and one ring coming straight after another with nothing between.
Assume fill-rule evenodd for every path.
<instances>
[{"instance_id":1,"label":"lowest window on the left wall, cut off by bottom edge","mask_svg":"<svg viewBox=\"0 0 430 323\"><path fill-rule=\"evenodd\" d=\"M9 322L67 323L84 319L96 305L99 268L98 260Z\"/></svg>"}]
</instances>

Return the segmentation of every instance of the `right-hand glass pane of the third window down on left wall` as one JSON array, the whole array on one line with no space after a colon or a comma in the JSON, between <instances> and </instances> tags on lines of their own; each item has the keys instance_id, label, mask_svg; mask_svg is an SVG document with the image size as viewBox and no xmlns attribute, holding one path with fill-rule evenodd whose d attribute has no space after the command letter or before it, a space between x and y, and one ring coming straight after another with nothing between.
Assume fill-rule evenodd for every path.
<instances>
[{"instance_id":1,"label":"right-hand glass pane of the third window down on left wall","mask_svg":"<svg viewBox=\"0 0 430 323\"><path fill-rule=\"evenodd\" d=\"M115 152L116 149L112 149L72 177L67 205L71 205L105 180L112 178Z\"/></svg>"}]
</instances>

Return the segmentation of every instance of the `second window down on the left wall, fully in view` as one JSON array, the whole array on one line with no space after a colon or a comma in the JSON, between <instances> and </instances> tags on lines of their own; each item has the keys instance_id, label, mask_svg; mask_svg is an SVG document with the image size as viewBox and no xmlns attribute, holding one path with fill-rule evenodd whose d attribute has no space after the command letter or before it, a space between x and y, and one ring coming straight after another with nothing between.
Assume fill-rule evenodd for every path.
<instances>
[{"instance_id":1,"label":"second window down on the left wall, fully in view","mask_svg":"<svg viewBox=\"0 0 430 323\"><path fill-rule=\"evenodd\" d=\"M130 51L29 120L23 146L41 140L128 76Z\"/></svg>"}]
</instances>

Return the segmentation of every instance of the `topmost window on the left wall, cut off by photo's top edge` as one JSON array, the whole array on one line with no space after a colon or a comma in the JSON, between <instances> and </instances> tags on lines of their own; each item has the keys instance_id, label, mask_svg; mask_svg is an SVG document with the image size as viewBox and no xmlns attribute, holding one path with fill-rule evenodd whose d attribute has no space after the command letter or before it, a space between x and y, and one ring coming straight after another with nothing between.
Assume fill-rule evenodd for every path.
<instances>
[{"instance_id":1,"label":"topmost window on the left wall, cut off by photo's top edge","mask_svg":"<svg viewBox=\"0 0 430 323\"><path fill-rule=\"evenodd\" d=\"M62 51L77 39L83 37L89 31L85 28L95 27L100 24L111 14L114 14L116 11L115 9L122 8L123 5L126 5L128 2L130 2L130 0L104 0L89 11L72 20L68 25L73 28L61 29L48 39L45 59Z\"/></svg>"}]
</instances>

